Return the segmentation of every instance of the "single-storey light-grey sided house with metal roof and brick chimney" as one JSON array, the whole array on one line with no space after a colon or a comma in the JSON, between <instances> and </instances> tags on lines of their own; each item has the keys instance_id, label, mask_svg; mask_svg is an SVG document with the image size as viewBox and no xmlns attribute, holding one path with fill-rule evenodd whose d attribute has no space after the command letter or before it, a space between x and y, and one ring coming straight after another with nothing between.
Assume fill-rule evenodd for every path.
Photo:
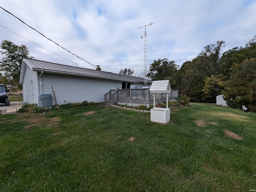
<instances>
[{"instance_id":1,"label":"single-storey light-grey sided house with metal roof and brick chimney","mask_svg":"<svg viewBox=\"0 0 256 192\"><path fill-rule=\"evenodd\" d=\"M23 100L29 104L42 105L42 100L50 96L52 105L76 102L104 102L110 90L129 89L144 86L144 78L96 70L23 59L20 73ZM148 84L152 83L148 80ZM54 91L54 92L53 92ZM54 98L55 93L55 98ZM48 97L49 98L49 97Z\"/></svg>"}]
</instances>

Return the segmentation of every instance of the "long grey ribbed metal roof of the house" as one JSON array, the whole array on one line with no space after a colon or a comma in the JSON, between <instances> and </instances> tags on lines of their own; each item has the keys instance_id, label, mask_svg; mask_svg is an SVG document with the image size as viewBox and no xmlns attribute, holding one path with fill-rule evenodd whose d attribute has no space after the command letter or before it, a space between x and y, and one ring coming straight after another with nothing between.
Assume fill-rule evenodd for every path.
<instances>
[{"instance_id":1,"label":"long grey ribbed metal roof of the house","mask_svg":"<svg viewBox=\"0 0 256 192\"><path fill-rule=\"evenodd\" d=\"M117 74L112 72L97 71L93 69L62 65L57 63L50 63L50 62L39 61L35 59L23 59L22 71L20 74L20 82L23 81L24 72L26 69L26 67L23 67L24 63L34 71L44 71L49 73L69 74L69 75L76 75L76 76L90 76L95 78L123 80L127 82L144 82L144 78L140 78L140 77L128 76L128 75ZM148 82L152 83L152 80L148 80Z\"/></svg>"}]
</instances>

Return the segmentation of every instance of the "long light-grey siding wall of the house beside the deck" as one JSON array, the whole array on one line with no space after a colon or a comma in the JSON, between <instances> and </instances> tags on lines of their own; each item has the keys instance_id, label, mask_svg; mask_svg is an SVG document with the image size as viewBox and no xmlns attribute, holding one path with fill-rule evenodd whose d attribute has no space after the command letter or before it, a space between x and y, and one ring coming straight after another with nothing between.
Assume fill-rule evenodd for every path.
<instances>
[{"instance_id":1,"label":"long light-grey siding wall of the house beside the deck","mask_svg":"<svg viewBox=\"0 0 256 192\"><path fill-rule=\"evenodd\" d=\"M58 105L76 102L104 102L104 95L110 89L120 86L119 80L88 78L63 74L44 73L42 78L42 94L52 94L52 88Z\"/></svg>"}]
</instances>

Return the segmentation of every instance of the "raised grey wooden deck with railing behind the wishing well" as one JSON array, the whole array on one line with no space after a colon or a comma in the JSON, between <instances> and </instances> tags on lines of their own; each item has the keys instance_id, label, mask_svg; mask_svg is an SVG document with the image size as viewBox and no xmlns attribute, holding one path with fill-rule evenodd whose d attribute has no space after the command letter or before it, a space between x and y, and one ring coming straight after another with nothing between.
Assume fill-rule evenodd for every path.
<instances>
[{"instance_id":1,"label":"raised grey wooden deck with railing behind the wishing well","mask_svg":"<svg viewBox=\"0 0 256 192\"><path fill-rule=\"evenodd\" d=\"M115 105L117 103L126 104L144 104L149 105L154 103L153 94L150 94L150 88L140 89L117 89L110 90L105 94L105 104ZM168 100L175 100L179 96L178 89L172 89ZM158 101L166 101L166 93L156 94L156 103Z\"/></svg>"}]
</instances>

